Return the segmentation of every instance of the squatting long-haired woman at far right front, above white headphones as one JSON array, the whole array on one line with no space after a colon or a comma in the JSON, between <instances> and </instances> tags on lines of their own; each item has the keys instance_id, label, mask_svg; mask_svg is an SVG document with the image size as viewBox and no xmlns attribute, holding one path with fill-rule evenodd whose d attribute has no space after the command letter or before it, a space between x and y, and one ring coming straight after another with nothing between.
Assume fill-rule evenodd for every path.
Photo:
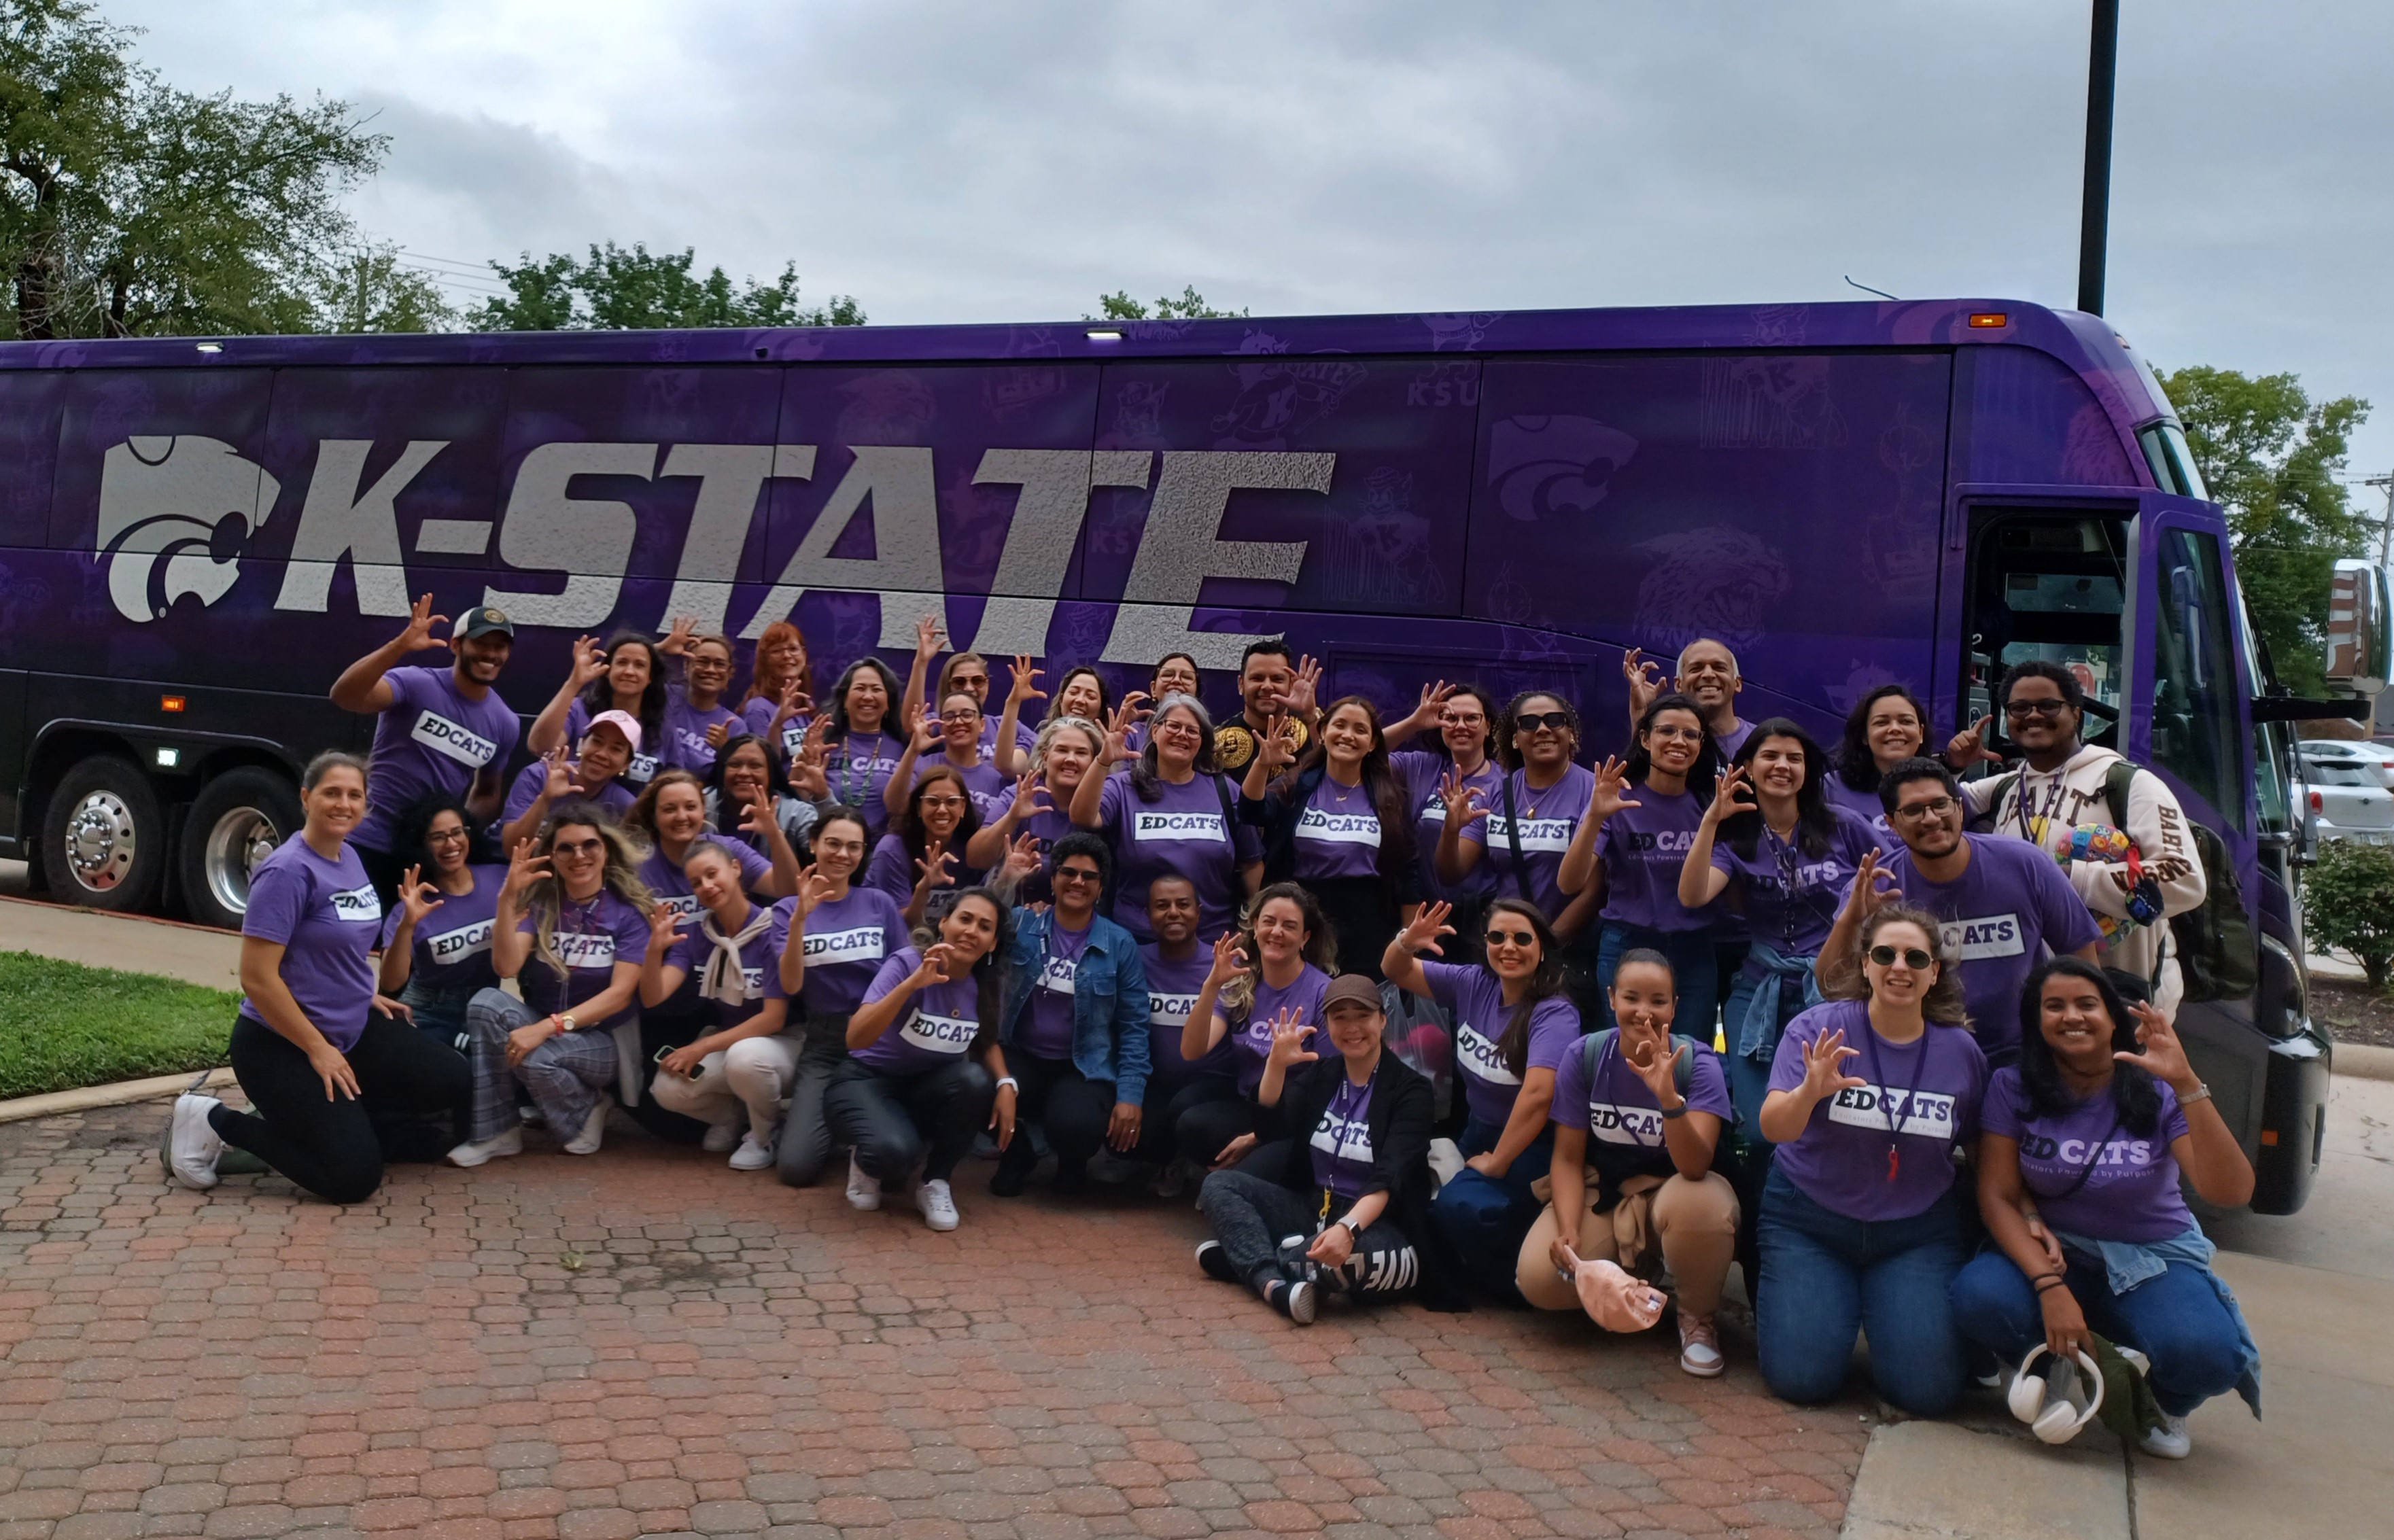
<instances>
[{"instance_id":1,"label":"squatting long-haired woman at far right front, above white headphones","mask_svg":"<svg viewBox=\"0 0 2394 1540\"><path fill-rule=\"evenodd\" d=\"M2102 968L2052 958L2021 996L2021 1061L1987 1085L1992 1245L1954 1279L1954 1315L2006 1370L2037 1344L2073 1356L2092 1332L2140 1351L2164 1418L2140 1447L2162 1459L2186 1459L2188 1413L2258 1368L2181 1171L2202 1202L2253 1200L2253 1164L2169 1020Z\"/></svg>"}]
</instances>

